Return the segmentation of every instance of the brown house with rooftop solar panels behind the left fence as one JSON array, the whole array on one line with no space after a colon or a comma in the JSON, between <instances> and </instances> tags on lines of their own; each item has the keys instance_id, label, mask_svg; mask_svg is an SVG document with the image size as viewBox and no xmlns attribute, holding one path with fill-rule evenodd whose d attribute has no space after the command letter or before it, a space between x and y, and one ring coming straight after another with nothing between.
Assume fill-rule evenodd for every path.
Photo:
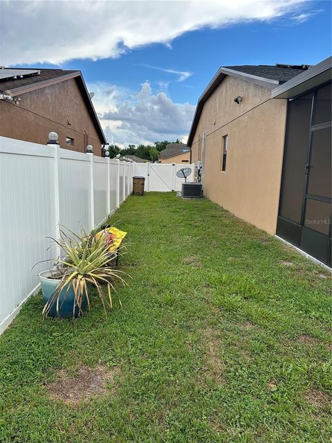
<instances>
[{"instance_id":1,"label":"brown house with rooftop solar panels behind the left fence","mask_svg":"<svg viewBox=\"0 0 332 443\"><path fill-rule=\"evenodd\" d=\"M80 71L1 68L0 99L1 136L45 145L55 131L61 147L93 145L102 155L106 139Z\"/></svg>"}]
</instances>

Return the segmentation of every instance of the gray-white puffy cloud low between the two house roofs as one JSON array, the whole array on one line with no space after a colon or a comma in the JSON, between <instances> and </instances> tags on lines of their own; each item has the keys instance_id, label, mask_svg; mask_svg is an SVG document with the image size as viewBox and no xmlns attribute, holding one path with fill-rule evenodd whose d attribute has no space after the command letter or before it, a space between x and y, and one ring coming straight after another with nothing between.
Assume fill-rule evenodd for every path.
<instances>
[{"instance_id":1,"label":"gray-white puffy cloud low between the two house roofs","mask_svg":"<svg viewBox=\"0 0 332 443\"><path fill-rule=\"evenodd\" d=\"M103 89L111 91L105 100ZM148 80L131 94L109 84L89 84L89 91L97 91L93 104L109 143L113 139L122 146L176 138L187 141L195 107L175 103L165 92L153 93Z\"/></svg>"}]
</instances>

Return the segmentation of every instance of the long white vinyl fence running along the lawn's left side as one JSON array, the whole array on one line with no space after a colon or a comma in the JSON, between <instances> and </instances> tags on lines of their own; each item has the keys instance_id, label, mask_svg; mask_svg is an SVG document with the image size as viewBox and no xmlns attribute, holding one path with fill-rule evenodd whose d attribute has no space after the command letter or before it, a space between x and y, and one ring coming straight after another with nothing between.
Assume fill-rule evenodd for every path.
<instances>
[{"instance_id":1,"label":"long white vinyl fence running along the lawn's left side","mask_svg":"<svg viewBox=\"0 0 332 443\"><path fill-rule=\"evenodd\" d=\"M0 136L0 333L57 255L59 224L91 230L132 191L133 163Z\"/></svg>"}]
</instances>

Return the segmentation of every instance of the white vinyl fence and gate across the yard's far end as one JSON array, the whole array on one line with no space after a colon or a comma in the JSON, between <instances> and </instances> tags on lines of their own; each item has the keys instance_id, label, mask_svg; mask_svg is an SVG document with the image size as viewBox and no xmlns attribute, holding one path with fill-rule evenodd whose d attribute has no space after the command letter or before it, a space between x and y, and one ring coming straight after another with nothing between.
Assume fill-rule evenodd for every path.
<instances>
[{"instance_id":1,"label":"white vinyl fence and gate across the yard's far end","mask_svg":"<svg viewBox=\"0 0 332 443\"><path fill-rule=\"evenodd\" d=\"M133 175L145 177L146 192L181 191L185 179L179 179L176 172L182 168L190 168L192 173L187 181L194 181L194 164L187 163L135 163Z\"/></svg>"}]
</instances>

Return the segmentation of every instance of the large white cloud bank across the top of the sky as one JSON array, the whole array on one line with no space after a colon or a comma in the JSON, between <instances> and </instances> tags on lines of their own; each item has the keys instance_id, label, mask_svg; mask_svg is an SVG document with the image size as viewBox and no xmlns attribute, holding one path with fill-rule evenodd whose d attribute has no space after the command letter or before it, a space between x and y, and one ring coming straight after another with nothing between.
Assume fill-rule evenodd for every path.
<instances>
[{"instance_id":1,"label":"large white cloud bank across the top of the sky","mask_svg":"<svg viewBox=\"0 0 332 443\"><path fill-rule=\"evenodd\" d=\"M119 57L204 26L294 14L304 1L0 1L1 64Z\"/></svg>"}]
</instances>

